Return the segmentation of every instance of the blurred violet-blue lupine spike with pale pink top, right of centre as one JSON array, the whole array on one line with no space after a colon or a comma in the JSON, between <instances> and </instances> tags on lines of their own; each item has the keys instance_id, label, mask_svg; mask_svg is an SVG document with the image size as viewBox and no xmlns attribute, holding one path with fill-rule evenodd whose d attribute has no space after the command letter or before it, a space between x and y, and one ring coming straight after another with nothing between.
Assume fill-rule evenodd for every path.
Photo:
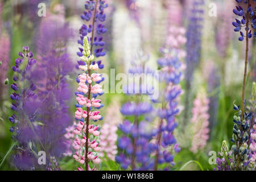
<instances>
[{"instance_id":1,"label":"blurred violet-blue lupine spike with pale pink top, right of centre","mask_svg":"<svg viewBox=\"0 0 256 182\"><path fill-rule=\"evenodd\" d=\"M163 57L158 60L158 65L161 68L159 78L164 89L160 93L163 97L159 100L162 107L158 110L160 122L158 123L156 137L155 170L158 169L158 163L166 163L167 167L165 169L170 169L174 166L174 151L180 151L179 144L176 143L174 137L174 130L177 127L175 115L179 113L177 98L181 94L179 85L181 81L179 51L176 49L162 49L162 54Z\"/></svg>"}]
</instances>

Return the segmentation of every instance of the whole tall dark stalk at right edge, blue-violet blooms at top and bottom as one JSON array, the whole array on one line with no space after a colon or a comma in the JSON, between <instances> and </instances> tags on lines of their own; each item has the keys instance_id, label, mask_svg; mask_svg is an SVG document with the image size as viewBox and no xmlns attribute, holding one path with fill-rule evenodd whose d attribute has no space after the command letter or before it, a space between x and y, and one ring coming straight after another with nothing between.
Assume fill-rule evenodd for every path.
<instances>
[{"instance_id":1,"label":"whole tall dark stalk at right edge, blue-violet blooms at top and bottom","mask_svg":"<svg viewBox=\"0 0 256 182\"><path fill-rule=\"evenodd\" d=\"M240 37L238 40L243 41L246 38L246 52L245 52L245 67L243 73L243 84L242 84L242 109L240 110L240 106L234 105L234 109L238 110L238 117L234 116L234 130L233 130L233 138L232 141L235 143L232 146L233 157L236 161L236 170L241 170L244 168L243 163L247 158L247 140L249 138L249 119L251 117L251 113L247 114L245 112L245 84L246 84L246 76L247 76L247 64L248 64L248 55L249 55L249 39L253 37L251 33L251 28L256 28L256 9L251 7L251 0L236 0L238 3L245 3L247 5L246 10L243 10L241 6L236 6L236 9L233 10L233 13L242 16L242 19L236 19L236 22L233 22L234 31L240 31ZM255 0L253 0L255 1ZM242 27L245 27L245 32L242 30ZM256 34L254 33L256 37Z\"/></svg>"}]
</instances>

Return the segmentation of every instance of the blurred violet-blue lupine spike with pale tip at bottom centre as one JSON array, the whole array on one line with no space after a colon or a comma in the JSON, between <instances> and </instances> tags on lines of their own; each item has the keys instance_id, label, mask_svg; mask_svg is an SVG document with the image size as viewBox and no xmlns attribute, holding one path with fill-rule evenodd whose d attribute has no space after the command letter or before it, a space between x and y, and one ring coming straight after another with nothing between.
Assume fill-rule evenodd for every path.
<instances>
[{"instance_id":1,"label":"blurred violet-blue lupine spike with pale tip at bottom centre","mask_svg":"<svg viewBox=\"0 0 256 182\"><path fill-rule=\"evenodd\" d=\"M137 63L129 69L130 74L141 75L150 72L150 69L146 68L146 60L142 60L142 56L139 56ZM133 90L129 89L130 86ZM136 100L124 104L120 111L123 115L133 118L134 121L126 119L119 125L123 135L118 138L120 151L115 156L115 160L121 164L123 169L150 170L154 167L154 160L150 156L156 149L156 144L151 141L156 133L150 126L150 121L154 118L154 115L151 115L154 113L154 107L143 100L148 93L148 90L142 92L142 88L148 88L144 82L139 85L129 85L129 88L124 89L125 93L134 96Z\"/></svg>"}]
</instances>

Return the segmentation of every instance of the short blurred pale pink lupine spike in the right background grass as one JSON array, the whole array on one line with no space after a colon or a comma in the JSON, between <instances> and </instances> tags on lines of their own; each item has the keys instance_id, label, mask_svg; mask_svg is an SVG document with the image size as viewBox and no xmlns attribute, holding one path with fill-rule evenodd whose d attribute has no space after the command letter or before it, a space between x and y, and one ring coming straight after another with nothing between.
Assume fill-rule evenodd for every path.
<instances>
[{"instance_id":1,"label":"short blurred pale pink lupine spike in the right background grass","mask_svg":"<svg viewBox=\"0 0 256 182\"><path fill-rule=\"evenodd\" d=\"M204 90L197 94L196 99L194 100L194 107L192 109L193 117L191 122L193 124L193 140L190 150L193 153L197 153L202 150L207 144L209 139L209 99Z\"/></svg>"}]
</instances>

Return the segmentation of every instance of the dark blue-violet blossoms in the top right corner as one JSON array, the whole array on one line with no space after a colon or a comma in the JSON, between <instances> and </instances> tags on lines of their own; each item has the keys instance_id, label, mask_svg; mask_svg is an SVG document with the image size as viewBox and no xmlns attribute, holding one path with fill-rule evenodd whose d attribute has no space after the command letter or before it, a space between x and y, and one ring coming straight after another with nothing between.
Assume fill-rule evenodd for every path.
<instances>
[{"instance_id":1,"label":"dark blue-violet blossoms in the top right corner","mask_svg":"<svg viewBox=\"0 0 256 182\"><path fill-rule=\"evenodd\" d=\"M252 0L256 2L255 0ZM237 16L241 16L242 19L236 19L236 22L233 22L234 31L240 32L240 37L238 40L243 41L243 39L246 38L252 38L253 32L251 31L251 28L256 28L256 6L252 7L250 0L236 0L236 2L241 3L244 2L247 4L247 9L244 10L241 6L236 6L236 9L233 9L233 13ZM251 22L250 22L251 20ZM246 34L242 31L242 27L245 27ZM254 32L254 38L256 38L256 32Z\"/></svg>"}]
</instances>

